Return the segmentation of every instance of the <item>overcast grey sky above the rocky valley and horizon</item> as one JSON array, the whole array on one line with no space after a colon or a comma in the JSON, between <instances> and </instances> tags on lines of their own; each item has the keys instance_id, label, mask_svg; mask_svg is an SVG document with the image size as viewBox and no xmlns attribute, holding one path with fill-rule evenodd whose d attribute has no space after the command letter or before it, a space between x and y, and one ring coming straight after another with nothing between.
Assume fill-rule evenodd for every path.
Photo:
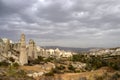
<instances>
[{"instance_id":1,"label":"overcast grey sky above the rocky valley and horizon","mask_svg":"<svg viewBox=\"0 0 120 80\"><path fill-rule=\"evenodd\" d=\"M120 0L0 0L0 37L40 46L120 46Z\"/></svg>"}]
</instances>

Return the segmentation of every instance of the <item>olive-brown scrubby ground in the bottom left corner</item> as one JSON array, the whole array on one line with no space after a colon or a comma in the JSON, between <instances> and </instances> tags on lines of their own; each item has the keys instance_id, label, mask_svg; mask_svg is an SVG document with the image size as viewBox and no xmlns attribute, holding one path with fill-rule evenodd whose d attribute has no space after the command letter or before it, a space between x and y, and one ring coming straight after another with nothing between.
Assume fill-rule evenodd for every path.
<instances>
[{"instance_id":1,"label":"olive-brown scrubby ground in the bottom left corner","mask_svg":"<svg viewBox=\"0 0 120 80\"><path fill-rule=\"evenodd\" d=\"M35 80L19 68L0 67L0 80Z\"/></svg>"}]
</instances>

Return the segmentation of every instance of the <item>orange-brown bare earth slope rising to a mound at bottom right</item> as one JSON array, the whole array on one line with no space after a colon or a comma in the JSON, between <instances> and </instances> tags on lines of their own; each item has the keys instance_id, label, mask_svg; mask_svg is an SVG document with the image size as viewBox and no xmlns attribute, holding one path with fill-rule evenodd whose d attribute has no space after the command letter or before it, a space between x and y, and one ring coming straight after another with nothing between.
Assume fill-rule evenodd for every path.
<instances>
[{"instance_id":1,"label":"orange-brown bare earth slope rising to a mound at bottom right","mask_svg":"<svg viewBox=\"0 0 120 80\"><path fill-rule=\"evenodd\" d=\"M120 71L114 71L108 67L99 70L82 73L64 73L54 76L42 76L36 80L120 80Z\"/></svg>"}]
</instances>

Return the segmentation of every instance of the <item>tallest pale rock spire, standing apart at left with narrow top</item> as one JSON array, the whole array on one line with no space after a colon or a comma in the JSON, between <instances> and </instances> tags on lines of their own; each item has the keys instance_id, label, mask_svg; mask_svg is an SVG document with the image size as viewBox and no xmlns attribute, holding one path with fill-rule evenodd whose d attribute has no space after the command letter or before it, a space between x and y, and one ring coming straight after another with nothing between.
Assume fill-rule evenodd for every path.
<instances>
[{"instance_id":1,"label":"tallest pale rock spire, standing apart at left with narrow top","mask_svg":"<svg viewBox=\"0 0 120 80\"><path fill-rule=\"evenodd\" d=\"M25 35L22 34L20 38L20 57L19 57L20 65L24 65L28 63L27 52L26 52L26 41Z\"/></svg>"}]
</instances>

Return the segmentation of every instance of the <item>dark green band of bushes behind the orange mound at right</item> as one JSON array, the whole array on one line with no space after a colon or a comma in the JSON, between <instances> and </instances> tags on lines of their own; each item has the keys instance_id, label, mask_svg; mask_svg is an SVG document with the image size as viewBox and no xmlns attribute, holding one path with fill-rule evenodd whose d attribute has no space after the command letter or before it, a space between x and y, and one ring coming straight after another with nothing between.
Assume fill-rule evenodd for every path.
<instances>
[{"instance_id":1,"label":"dark green band of bushes behind the orange mound at right","mask_svg":"<svg viewBox=\"0 0 120 80\"><path fill-rule=\"evenodd\" d=\"M104 56L89 56L86 55L73 55L72 61L73 62L83 62L86 63L87 70L96 70L104 66L111 67L115 70L120 70L120 56L112 56L113 58L109 59L110 56L107 56L104 59Z\"/></svg>"}]
</instances>

